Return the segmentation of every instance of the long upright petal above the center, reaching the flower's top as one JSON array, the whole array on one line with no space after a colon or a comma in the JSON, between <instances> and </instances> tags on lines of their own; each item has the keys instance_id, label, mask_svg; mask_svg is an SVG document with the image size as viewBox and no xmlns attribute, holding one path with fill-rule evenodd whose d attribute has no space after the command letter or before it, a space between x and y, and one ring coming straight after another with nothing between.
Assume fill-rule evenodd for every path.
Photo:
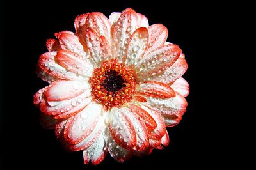
<instances>
[{"instance_id":1,"label":"long upright petal above the center, reaching the flower's top","mask_svg":"<svg viewBox=\"0 0 256 170\"><path fill-rule=\"evenodd\" d=\"M114 56L120 62L125 61L125 51L127 50L127 45L129 38L135 29L138 27L137 14L131 8L127 8L120 15L117 23L113 28L112 44L114 45Z\"/></svg>"}]
</instances>

